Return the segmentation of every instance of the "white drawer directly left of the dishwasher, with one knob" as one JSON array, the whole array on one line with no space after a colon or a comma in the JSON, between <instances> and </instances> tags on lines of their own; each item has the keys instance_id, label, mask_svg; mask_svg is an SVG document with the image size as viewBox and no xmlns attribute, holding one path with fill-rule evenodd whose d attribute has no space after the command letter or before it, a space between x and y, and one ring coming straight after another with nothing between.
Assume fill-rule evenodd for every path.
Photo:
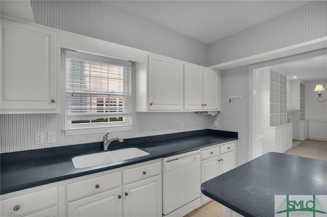
<instances>
[{"instance_id":1,"label":"white drawer directly left of the dishwasher, with one knob","mask_svg":"<svg viewBox=\"0 0 327 217\"><path fill-rule=\"evenodd\" d=\"M155 162L153 164L132 168L123 171L124 184L134 181L146 179L161 173L161 162Z\"/></svg>"}]
</instances>

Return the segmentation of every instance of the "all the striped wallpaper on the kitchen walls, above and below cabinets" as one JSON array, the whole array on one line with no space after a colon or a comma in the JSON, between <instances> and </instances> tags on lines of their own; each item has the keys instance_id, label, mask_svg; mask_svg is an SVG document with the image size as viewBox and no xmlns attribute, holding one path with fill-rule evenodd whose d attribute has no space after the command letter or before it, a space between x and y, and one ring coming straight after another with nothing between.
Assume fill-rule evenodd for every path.
<instances>
[{"instance_id":1,"label":"all the striped wallpaper on the kitchen walls, above and below cabinets","mask_svg":"<svg viewBox=\"0 0 327 217\"><path fill-rule=\"evenodd\" d=\"M241 32L205 45L151 21L99 1L32 1L36 23L204 65L216 65L327 36L327 2L313 1ZM242 99L228 102L228 96ZM134 105L134 104L133 104ZM99 142L103 133L65 136L61 114L1 115L1 152ZM218 128L213 127L218 121ZM122 138L196 129L239 132L238 164L248 155L247 67L222 71L222 112L133 113L133 130L113 132ZM56 131L57 143L35 145L36 132Z\"/></svg>"}]
</instances>

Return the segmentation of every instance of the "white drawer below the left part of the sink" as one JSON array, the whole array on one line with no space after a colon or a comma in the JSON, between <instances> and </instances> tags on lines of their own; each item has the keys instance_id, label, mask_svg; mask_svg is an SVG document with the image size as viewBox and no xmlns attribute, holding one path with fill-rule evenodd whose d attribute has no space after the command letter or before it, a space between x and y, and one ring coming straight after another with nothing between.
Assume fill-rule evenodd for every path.
<instances>
[{"instance_id":1,"label":"white drawer below the left part of the sink","mask_svg":"<svg viewBox=\"0 0 327 217\"><path fill-rule=\"evenodd\" d=\"M94 195L121 186L121 172L67 184L67 201Z\"/></svg>"}]
</instances>

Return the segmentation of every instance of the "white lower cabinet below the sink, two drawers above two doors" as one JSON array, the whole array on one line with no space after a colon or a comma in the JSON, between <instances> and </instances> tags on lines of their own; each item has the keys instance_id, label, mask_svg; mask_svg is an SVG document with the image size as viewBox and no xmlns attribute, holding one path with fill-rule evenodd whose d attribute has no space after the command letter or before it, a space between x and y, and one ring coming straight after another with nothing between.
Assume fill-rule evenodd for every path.
<instances>
[{"instance_id":1,"label":"white lower cabinet below the sink, two drawers above two doors","mask_svg":"<svg viewBox=\"0 0 327 217\"><path fill-rule=\"evenodd\" d=\"M151 161L69 183L67 216L162 216L161 182L161 161Z\"/></svg>"}]
</instances>

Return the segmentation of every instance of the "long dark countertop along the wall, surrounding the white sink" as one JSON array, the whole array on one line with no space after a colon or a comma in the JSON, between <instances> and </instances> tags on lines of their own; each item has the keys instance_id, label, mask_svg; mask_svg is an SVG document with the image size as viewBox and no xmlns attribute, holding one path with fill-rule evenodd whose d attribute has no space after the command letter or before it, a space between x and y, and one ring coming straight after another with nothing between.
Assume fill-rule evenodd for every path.
<instances>
[{"instance_id":1,"label":"long dark countertop along the wall, surrounding the white sink","mask_svg":"<svg viewBox=\"0 0 327 217\"><path fill-rule=\"evenodd\" d=\"M238 139L237 132L196 130L114 141L109 150L137 147L150 154L110 164L76 169L72 157L102 151L102 142L1 154L1 194L75 178L148 160L181 154Z\"/></svg>"}]
</instances>

